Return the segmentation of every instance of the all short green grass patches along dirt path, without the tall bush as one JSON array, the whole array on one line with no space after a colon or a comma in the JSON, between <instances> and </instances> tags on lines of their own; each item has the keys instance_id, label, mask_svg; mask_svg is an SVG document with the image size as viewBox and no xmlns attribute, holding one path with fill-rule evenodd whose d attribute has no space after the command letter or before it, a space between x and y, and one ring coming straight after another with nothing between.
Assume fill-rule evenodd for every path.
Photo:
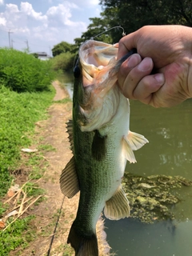
<instances>
[{"instance_id":1,"label":"all short green grass patches along dirt path, without the tall bush","mask_svg":"<svg viewBox=\"0 0 192 256\"><path fill-rule=\"evenodd\" d=\"M5 86L0 86L0 197L6 194L12 180L11 172L21 164L21 149L29 147L32 143L35 122L47 118L46 109L54 98L54 89L42 92L25 92L18 94ZM42 138L40 138L42 140ZM42 143L42 141L41 141ZM29 178L41 178L44 171L42 154L45 151L54 150L49 144L41 144L38 151L29 154L24 164L30 167ZM45 162L45 160L44 160ZM38 197L44 194L44 190L37 183L26 182L23 190L27 197ZM44 198L39 198L35 205ZM0 203L0 218L2 218L9 206ZM30 220L33 216L19 218L12 223L7 230L0 231L0 255L9 255L10 251L18 247L25 248L35 238L30 229ZM11 218L9 218L11 222ZM9 224L6 222L6 225Z\"/></svg>"}]
</instances>

